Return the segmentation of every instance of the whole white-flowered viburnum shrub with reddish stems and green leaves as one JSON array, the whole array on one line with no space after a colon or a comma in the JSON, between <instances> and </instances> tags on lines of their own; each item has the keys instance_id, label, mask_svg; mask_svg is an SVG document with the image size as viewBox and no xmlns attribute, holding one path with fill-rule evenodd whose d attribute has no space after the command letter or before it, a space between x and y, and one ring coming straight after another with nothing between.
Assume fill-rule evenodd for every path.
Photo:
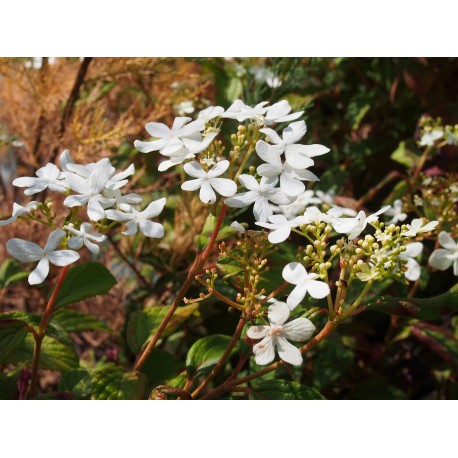
<instances>
[{"instance_id":1,"label":"whole white-flowered viburnum shrub with reddish stems and green leaves","mask_svg":"<svg viewBox=\"0 0 458 458\"><path fill-rule=\"evenodd\" d=\"M46 191L49 197L14 204L11 218L0 224L36 221L49 236L42 244L13 238L6 244L9 254L33 267L30 285L44 282L50 264L61 268L41 316L8 312L0 317L0 362L31 364L30 398L38 395L39 369L50 368L63 373L60 391L83 398L213 399L248 393L319 399L310 387L263 376L286 364L302 365L304 353L364 310L429 319L440 316L447 301L454 302L453 289L431 300L372 294L374 285L387 279L420 278L416 258L439 221L407 222L400 200L371 213L337 205L332 191L314 192L315 158L330 150L301 143L307 133L303 112L291 111L286 100L254 107L236 100L227 109L208 107L194 120L177 117L171 127L149 122L151 139L135 141L139 152L163 156L159 171L179 170L182 197L198 195L208 216L181 288L169 303L155 304L129 324L128 343L137 353L132 366L128 361L80 365L74 350L67 351L72 346L68 332L79 328L66 330L59 317L66 305L106 293L115 283L101 264L78 264L81 250L96 258L114 231L161 239L161 212L169 196L151 200L124 193L133 165L117 171L109 159L78 164L68 150L59 164L13 181L27 196ZM422 144L443 135L428 128ZM63 195L65 212L55 210L53 193ZM435 251L428 245L431 266L453 266L458 275L456 242L442 231L439 244ZM185 364L172 361L167 346L158 352L158 344L210 299L237 314L232 336L196 340Z\"/></svg>"}]
</instances>

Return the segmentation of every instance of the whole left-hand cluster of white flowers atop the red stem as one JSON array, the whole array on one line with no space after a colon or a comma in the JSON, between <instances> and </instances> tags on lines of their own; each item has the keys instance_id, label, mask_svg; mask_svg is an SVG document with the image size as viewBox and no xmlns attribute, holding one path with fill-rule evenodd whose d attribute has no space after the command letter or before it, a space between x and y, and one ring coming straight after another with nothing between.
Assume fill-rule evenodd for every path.
<instances>
[{"instance_id":1,"label":"whole left-hand cluster of white flowers atop the red stem","mask_svg":"<svg viewBox=\"0 0 458 458\"><path fill-rule=\"evenodd\" d=\"M51 218L48 224L54 229L44 248L39 245L13 238L6 243L6 249L14 258L22 262L38 262L28 277L31 285L42 283L49 273L49 263L67 266L77 261L80 255L76 250L85 246L93 254L99 253L99 244L107 236L98 231L106 228L110 221L121 221L126 225L123 234L134 235L138 231L147 237L160 238L164 235L161 224L151 221L164 208L166 199L151 202L146 209L139 211L135 205L143 198L135 193L123 194L121 188L133 175L135 167L131 164L126 170L117 172L107 158L86 165L75 163L68 150L60 156L60 168L47 164L36 171L35 177L20 177L13 181L14 186L26 188L27 196L49 190L65 195L63 205L70 209L66 224L56 227ZM13 205L10 218L0 221L0 226L13 223L17 218L34 218L40 202L32 201L25 206ZM83 221L79 210L85 209L89 221ZM75 211L76 210L76 211ZM68 249L59 249L59 247Z\"/></svg>"}]
</instances>

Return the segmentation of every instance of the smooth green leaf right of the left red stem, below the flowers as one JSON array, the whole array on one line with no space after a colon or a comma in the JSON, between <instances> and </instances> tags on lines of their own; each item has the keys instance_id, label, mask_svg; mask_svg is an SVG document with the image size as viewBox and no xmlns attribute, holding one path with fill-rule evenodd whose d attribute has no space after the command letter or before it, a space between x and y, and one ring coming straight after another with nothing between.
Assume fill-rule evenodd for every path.
<instances>
[{"instance_id":1,"label":"smooth green leaf right of the left red stem, below the flowers","mask_svg":"<svg viewBox=\"0 0 458 458\"><path fill-rule=\"evenodd\" d=\"M107 293L116 284L110 271L98 262L72 267L57 294L55 308Z\"/></svg>"}]
</instances>

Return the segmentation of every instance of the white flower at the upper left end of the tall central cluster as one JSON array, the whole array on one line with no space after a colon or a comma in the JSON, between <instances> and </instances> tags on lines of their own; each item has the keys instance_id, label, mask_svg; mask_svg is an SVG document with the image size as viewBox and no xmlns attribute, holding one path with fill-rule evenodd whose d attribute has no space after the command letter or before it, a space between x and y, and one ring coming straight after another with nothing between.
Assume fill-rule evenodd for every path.
<instances>
[{"instance_id":1,"label":"white flower at the upper left end of the tall central cluster","mask_svg":"<svg viewBox=\"0 0 458 458\"><path fill-rule=\"evenodd\" d=\"M159 151L168 156L175 153L184 146L183 138L187 138L205 128L205 122L201 119L191 121L191 118L177 117L172 128L159 122L149 122L145 125L146 131L151 137L156 138L150 142L135 140L134 146L141 153Z\"/></svg>"}]
</instances>

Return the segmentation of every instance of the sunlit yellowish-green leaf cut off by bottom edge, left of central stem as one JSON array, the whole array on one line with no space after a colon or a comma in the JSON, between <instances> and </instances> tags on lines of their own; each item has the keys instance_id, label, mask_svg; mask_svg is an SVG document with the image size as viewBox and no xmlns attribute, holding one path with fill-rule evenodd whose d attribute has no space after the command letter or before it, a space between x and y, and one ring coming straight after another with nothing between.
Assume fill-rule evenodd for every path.
<instances>
[{"instance_id":1,"label":"sunlit yellowish-green leaf cut off by bottom edge, left of central stem","mask_svg":"<svg viewBox=\"0 0 458 458\"><path fill-rule=\"evenodd\" d=\"M95 373L92 379L92 399L143 399L146 376L139 372L124 372L119 368L106 368Z\"/></svg>"}]
</instances>

